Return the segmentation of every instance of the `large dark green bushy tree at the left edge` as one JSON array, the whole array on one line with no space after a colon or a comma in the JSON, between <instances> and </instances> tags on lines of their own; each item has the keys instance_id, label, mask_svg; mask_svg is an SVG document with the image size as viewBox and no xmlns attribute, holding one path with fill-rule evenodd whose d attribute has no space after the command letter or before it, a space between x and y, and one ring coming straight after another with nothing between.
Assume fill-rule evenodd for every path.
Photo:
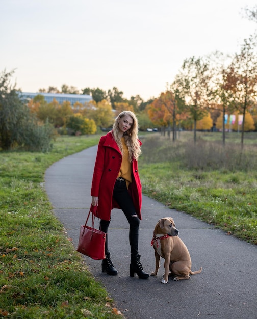
<instances>
[{"instance_id":1,"label":"large dark green bushy tree at the left edge","mask_svg":"<svg viewBox=\"0 0 257 319\"><path fill-rule=\"evenodd\" d=\"M53 127L39 125L25 102L19 97L16 85L10 84L14 71L0 76L0 147L9 150L22 147L30 151L48 151Z\"/></svg>"}]
</instances>

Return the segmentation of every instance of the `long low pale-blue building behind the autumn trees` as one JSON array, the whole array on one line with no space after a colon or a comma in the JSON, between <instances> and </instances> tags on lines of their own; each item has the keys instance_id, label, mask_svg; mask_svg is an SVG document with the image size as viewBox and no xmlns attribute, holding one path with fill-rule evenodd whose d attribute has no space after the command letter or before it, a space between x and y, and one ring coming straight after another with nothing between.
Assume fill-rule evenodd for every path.
<instances>
[{"instance_id":1,"label":"long low pale-blue building behind the autumn trees","mask_svg":"<svg viewBox=\"0 0 257 319\"><path fill-rule=\"evenodd\" d=\"M71 106L75 102L87 103L92 101L92 96L87 94L65 94L65 93L28 93L28 92L19 92L20 96L25 99L31 100L37 95L42 95L47 103L53 102L54 99L57 100L59 104L62 104L65 101L69 101Z\"/></svg>"}]
</instances>

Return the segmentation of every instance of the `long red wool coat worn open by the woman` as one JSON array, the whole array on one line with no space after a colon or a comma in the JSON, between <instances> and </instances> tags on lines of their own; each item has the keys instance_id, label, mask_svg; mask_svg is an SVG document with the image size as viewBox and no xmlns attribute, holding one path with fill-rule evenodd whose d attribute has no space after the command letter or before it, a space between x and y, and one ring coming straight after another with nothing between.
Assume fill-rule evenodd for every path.
<instances>
[{"instance_id":1,"label":"long red wool coat worn open by the woman","mask_svg":"<svg viewBox=\"0 0 257 319\"><path fill-rule=\"evenodd\" d=\"M139 141L140 142L140 141ZM141 143L141 142L140 142ZM95 160L95 167L92 179L91 196L98 196L97 216L100 219L110 220L111 210L120 208L113 199L113 189L121 167L122 154L112 133L100 138ZM129 185L136 213L140 220L142 205L142 187L138 174L138 163L132 163L132 183Z\"/></svg>"}]
</instances>

